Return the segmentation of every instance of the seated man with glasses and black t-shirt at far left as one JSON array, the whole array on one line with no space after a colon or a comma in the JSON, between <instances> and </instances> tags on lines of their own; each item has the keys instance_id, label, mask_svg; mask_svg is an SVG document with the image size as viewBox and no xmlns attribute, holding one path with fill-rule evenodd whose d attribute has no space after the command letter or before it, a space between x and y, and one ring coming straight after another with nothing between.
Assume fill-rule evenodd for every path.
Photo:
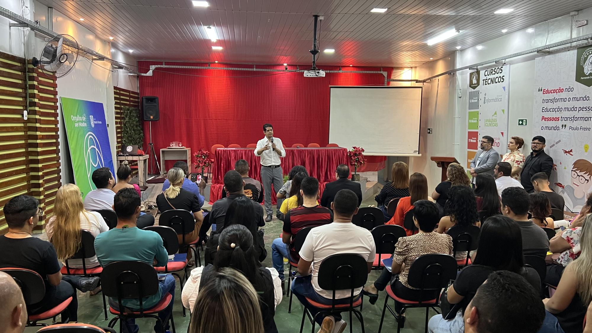
<instances>
[{"instance_id":1,"label":"seated man with glasses and black t-shirt at far left","mask_svg":"<svg viewBox=\"0 0 592 333\"><path fill-rule=\"evenodd\" d=\"M45 296L41 302L27 305L29 315L37 315L60 305L72 297L62 313L62 322L78 320L76 290L88 292L99 284L99 277L62 276L56 249L50 242L33 237L33 229L43 216L39 201L30 196L11 198L4 205L8 232L0 236L0 268L25 268L37 272L45 282Z\"/></svg>"}]
</instances>

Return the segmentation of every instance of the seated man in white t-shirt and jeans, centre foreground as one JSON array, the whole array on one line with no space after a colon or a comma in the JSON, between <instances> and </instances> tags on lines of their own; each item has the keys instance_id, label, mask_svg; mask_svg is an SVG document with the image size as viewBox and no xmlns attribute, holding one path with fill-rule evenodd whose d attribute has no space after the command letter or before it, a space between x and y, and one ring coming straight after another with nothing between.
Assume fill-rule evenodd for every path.
<instances>
[{"instance_id":1,"label":"seated man in white t-shirt and jeans, centre foreground","mask_svg":"<svg viewBox=\"0 0 592 333\"><path fill-rule=\"evenodd\" d=\"M325 258L333 254L359 254L368 263L370 273L376 255L372 233L352 223L353 215L358 213L358 196L352 190L340 190L333 199L331 209L334 213L333 223L317 226L308 233L299 252L298 273L301 277L295 278L292 283L292 292L313 316L318 309L308 303L307 297L318 303L332 303L333 292L318 286L318 269ZM361 290L362 288L354 290L356 298ZM336 290L335 303L349 304L350 293L350 289ZM317 322L321 325L319 332L342 332L346 326L339 312L317 318Z\"/></svg>"}]
</instances>

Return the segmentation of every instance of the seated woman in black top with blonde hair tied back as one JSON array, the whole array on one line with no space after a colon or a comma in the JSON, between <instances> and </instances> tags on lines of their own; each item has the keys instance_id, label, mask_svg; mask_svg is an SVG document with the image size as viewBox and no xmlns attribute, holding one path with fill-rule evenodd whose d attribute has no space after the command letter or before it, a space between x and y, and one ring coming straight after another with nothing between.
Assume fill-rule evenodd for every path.
<instances>
[{"instance_id":1,"label":"seated woman in black top with blonde hair tied back","mask_svg":"<svg viewBox=\"0 0 592 333\"><path fill-rule=\"evenodd\" d=\"M183 209L193 213L195 218L193 231L185 235L177 235L179 245L191 244L191 242L194 242L200 236L201 223L204 222L200 201L195 194L182 187L184 180L187 178L185 178L185 173L181 168L171 168L168 174L166 174L166 179L169 181L170 186L156 197L156 206L158 206L160 212L166 212L171 209ZM185 243L183 243L183 239L185 239ZM187 248L185 248L185 251L187 251ZM192 266L194 261L191 260L191 252L187 252L187 260L189 260L190 266Z\"/></svg>"}]
</instances>

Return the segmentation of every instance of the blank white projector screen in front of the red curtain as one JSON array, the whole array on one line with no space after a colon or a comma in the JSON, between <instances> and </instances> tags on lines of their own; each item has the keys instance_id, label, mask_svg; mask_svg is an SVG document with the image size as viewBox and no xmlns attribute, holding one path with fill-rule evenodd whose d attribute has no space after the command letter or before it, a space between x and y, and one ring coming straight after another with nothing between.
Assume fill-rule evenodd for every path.
<instances>
[{"instance_id":1,"label":"blank white projector screen in front of the red curtain","mask_svg":"<svg viewBox=\"0 0 592 333\"><path fill-rule=\"evenodd\" d=\"M331 86L329 142L365 155L420 156L422 87Z\"/></svg>"}]
</instances>

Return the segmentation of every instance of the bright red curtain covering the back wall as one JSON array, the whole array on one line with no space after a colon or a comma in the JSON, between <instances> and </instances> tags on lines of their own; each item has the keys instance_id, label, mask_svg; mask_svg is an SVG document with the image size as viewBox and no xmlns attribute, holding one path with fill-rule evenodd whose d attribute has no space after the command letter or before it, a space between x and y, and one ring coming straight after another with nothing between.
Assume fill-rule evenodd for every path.
<instances>
[{"instance_id":1,"label":"bright red curtain covering the back wall","mask_svg":"<svg viewBox=\"0 0 592 333\"><path fill-rule=\"evenodd\" d=\"M163 62L138 64L140 72L147 72L150 65ZM165 64L208 66L187 62ZM217 63L211 66L253 68L253 65ZM256 67L284 69L284 66ZM323 66L323 69L339 70L339 67ZM384 70L390 77L392 68ZM347 66L343 71L380 71L380 68ZM264 123L273 124L275 136L288 147L293 143L318 143L323 147L329 143L329 86L384 85L380 73L327 73L324 78L304 78L302 72L178 68L157 68L152 76L139 79L140 96L159 98L160 120L152 122L152 142L157 156L172 141L180 141L192 151L199 148L210 151L215 144L227 147L236 143L246 147L263 138ZM148 122L144 121L144 147L149 142L148 133ZM172 167L173 163L168 161L163 169Z\"/></svg>"}]
</instances>

